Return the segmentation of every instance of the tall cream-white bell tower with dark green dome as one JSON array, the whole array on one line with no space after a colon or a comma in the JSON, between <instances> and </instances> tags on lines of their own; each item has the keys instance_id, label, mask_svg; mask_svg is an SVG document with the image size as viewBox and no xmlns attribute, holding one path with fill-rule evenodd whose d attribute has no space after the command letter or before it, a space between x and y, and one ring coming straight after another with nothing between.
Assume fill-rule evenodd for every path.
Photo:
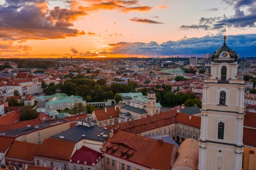
<instances>
[{"instance_id":1,"label":"tall cream-white bell tower with dark green dome","mask_svg":"<svg viewBox=\"0 0 256 170\"><path fill-rule=\"evenodd\" d=\"M238 56L224 43L203 82L199 170L241 170L245 82Z\"/></svg>"}]
</instances>

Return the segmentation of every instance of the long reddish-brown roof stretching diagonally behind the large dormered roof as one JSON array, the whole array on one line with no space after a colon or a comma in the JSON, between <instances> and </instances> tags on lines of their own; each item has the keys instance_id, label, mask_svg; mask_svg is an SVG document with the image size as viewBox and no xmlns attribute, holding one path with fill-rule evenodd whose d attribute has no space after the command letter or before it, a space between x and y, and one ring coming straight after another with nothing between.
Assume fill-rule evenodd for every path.
<instances>
[{"instance_id":1,"label":"long reddish-brown roof stretching diagonally behind the large dormered roof","mask_svg":"<svg viewBox=\"0 0 256 170\"><path fill-rule=\"evenodd\" d=\"M114 125L106 126L106 128L111 130L116 128L117 125L119 125L120 130L138 134L141 132L145 132L147 130L151 130L151 129L155 129L155 128L159 128L162 126L175 123L176 122L175 115L177 115L176 110L169 110L169 111L160 113L160 115L154 115L151 117L145 117L135 121L128 121L124 123L114 124Z\"/></svg>"}]
</instances>

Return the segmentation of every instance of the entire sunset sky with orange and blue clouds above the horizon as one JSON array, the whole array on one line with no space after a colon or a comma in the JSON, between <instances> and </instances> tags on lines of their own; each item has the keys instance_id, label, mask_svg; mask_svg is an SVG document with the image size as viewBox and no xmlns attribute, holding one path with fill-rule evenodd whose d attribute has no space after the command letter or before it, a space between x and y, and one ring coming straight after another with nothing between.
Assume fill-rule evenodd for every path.
<instances>
[{"instance_id":1,"label":"entire sunset sky with orange and blue clouds above the horizon","mask_svg":"<svg viewBox=\"0 0 256 170\"><path fill-rule=\"evenodd\" d=\"M224 34L256 56L255 0L0 0L0 57L205 57Z\"/></svg>"}]
</instances>

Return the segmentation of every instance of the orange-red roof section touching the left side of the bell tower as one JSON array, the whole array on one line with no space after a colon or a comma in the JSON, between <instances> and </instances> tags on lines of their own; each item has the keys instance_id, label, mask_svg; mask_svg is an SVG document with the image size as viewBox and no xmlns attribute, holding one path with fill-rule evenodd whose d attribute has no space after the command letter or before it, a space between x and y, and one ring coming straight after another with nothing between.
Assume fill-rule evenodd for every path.
<instances>
[{"instance_id":1,"label":"orange-red roof section touching the left side of the bell tower","mask_svg":"<svg viewBox=\"0 0 256 170\"><path fill-rule=\"evenodd\" d=\"M191 116L191 119L189 119ZM193 126L195 128L200 128L201 126L201 117L188 115L186 113L178 113L176 116L177 122L186 124L189 126Z\"/></svg>"}]
</instances>

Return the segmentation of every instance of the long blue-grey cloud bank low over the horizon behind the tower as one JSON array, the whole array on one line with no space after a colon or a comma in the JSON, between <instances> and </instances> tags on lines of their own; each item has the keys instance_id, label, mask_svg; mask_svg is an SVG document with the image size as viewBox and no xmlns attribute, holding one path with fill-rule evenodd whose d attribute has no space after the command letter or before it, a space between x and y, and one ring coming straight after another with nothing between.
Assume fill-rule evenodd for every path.
<instances>
[{"instance_id":1,"label":"long blue-grey cloud bank low over the horizon behind the tower","mask_svg":"<svg viewBox=\"0 0 256 170\"><path fill-rule=\"evenodd\" d=\"M198 56L205 57L223 45L224 39L219 36L204 36L202 38L186 38L179 41L157 42L119 42L108 44L112 47L111 54L148 55L148 56ZM227 45L244 57L256 56L256 34L227 36Z\"/></svg>"}]
</instances>

